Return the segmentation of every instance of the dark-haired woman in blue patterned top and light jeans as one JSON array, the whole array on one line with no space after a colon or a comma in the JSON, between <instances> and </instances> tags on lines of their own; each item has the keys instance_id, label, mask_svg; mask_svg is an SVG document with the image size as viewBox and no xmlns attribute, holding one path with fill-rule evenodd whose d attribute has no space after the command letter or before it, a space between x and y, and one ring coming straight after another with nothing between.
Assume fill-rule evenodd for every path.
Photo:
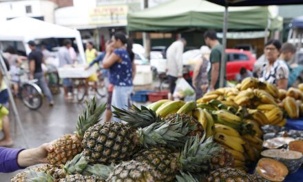
<instances>
[{"instance_id":1,"label":"dark-haired woman in blue patterned top and light jeans","mask_svg":"<svg viewBox=\"0 0 303 182\"><path fill-rule=\"evenodd\" d=\"M103 68L109 69L109 82L114 85L112 105L119 109L128 107L133 89L133 60L131 41L122 32L116 32L112 36L111 45L107 45ZM114 121L119 119L114 118Z\"/></svg>"}]
</instances>

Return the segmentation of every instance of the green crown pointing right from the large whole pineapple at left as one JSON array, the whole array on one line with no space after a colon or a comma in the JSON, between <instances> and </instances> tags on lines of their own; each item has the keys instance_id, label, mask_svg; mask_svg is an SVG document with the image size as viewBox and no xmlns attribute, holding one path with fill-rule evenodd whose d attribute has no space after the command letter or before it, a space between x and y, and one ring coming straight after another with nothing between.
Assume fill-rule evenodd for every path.
<instances>
[{"instance_id":1,"label":"green crown pointing right from the large whole pineapple at left","mask_svg":"<svg viewBox=\"0 0 303 182\"><path fill-rule=\"evenodd\" d=\"M182 121L152 123L137 130L139 143L145 148L155 145L171 149L182 148L189 132L189 123Z\"/></svg>"}]
</instances>

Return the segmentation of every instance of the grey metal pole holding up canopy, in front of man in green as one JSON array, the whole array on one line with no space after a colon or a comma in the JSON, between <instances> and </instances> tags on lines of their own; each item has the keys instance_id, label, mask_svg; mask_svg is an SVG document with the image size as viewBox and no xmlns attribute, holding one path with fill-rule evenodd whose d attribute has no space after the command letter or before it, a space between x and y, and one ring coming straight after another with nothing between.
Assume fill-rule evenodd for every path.
<instances>
[{"instance_id":1,"label":"grey metal pole holding up canopy, in front of man in green","mask_svg":"<svg viewBox=\"0 0 303 182\"><path fill-rule=\"evenodd\" d=\"M225 62L225 57L226 57L226 53L225 50L227 48L227 27L228 27L228 6L225 5L225 11L224 11L224 21L223 21L223 39L222 39L222 46L223 46L223 52L222 52L222 57L221 57L221 69L220 69L220 88L222 88L224 86L224 79L225 79L225 75L223 74L226 70L226 62Z\"/></svg>"}]
</instances>

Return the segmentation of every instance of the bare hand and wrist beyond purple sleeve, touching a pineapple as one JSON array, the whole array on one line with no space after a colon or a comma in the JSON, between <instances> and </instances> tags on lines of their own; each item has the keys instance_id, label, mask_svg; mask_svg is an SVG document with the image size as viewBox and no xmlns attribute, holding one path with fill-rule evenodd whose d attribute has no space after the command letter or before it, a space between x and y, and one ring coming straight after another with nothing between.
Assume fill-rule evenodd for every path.
<instances>
[{"instance_id":1,"label":"bare hand and wrist beyond purple sleeve, touching a pineapple","mask_svg":"<svg viewBox=\"0 0 303 182\"><path fill-rule=\"evenodd\" d=\"M52 143L43 143L37 148L22 150L18 155L18 164L23 167L36 165L38 163L48 163L46 156L52 152Z\"/></svg>"}]
</instances>

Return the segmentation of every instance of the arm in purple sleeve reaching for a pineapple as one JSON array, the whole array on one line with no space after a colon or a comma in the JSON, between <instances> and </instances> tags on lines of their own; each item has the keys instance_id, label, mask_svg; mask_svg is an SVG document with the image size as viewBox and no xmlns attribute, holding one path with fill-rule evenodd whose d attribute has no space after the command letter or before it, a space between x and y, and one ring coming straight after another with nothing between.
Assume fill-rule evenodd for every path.
<instances>
[{"instance_id":1,"label":"arm in purple sleeve reaching for a pineapple","mask_svg":"<svg viewBox=\"0 0 303 182\"><path fill-rule=\"evenodd\" d=\"M50 143L26 150L0 147L0 172L14 172L30 165L47 163L46 155L52 150Z\"/></svg>"}]
</instances>

